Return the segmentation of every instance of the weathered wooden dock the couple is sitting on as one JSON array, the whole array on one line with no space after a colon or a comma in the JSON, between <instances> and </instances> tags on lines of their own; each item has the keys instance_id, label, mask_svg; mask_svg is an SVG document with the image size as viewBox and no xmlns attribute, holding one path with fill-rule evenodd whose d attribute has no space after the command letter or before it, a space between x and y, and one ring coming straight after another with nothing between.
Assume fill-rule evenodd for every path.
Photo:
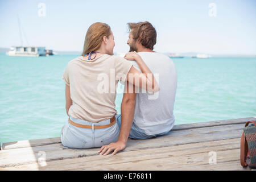
<instances>
[{"instance_id":1,"label":"weathered wooden dock the couple is sitting on","mask_svg":"<svg viewBox=\"0 0 256 182\"><path fill-rule=\"evenodd\" d=\"M129 139L114 156L64 147L59 137L3 143L0 170L251 170L240 165L250 120L256 117L175 125L165 136Z\"/></svg>"}]
</instances>

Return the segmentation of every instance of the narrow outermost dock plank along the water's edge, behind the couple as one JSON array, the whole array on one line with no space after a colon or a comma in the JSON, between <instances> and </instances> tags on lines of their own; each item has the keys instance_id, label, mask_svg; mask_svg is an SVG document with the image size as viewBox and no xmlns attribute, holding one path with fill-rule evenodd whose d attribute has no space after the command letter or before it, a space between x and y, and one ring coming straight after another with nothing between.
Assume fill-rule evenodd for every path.
<instances>
[{"instance_id":1,"label":"narrow outermost dock plank along the water's edge, behind the couple","mask_svg":"<svg viewBox=\"0 0 256 182\"><path fill-rule=\"evenodd\" d=\"M213 127L213 126L223 126L223 125L244 124L246 121L250 121L250 120L256 121L256 117L226 119L226 120L220 120L220 121L175 125L174 128L172 129L172 131L197 129L197 128ZM13 149L13 148L22 148L22 147L42 146L42 145L53 144L53 143L60 143L60 138L56 137L56 138L22 140L22 141L18 141L18 142L3 143L2 150L8 150L8 149Z\"/></svg>"}]
</instances>

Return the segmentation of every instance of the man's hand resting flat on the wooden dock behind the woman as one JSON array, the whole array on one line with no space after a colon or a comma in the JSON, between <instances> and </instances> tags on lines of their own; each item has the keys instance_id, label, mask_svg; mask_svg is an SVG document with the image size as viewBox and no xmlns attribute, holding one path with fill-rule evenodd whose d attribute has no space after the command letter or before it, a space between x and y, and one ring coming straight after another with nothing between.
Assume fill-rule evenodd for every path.
<instances>
[{"instance_id":1,"label":"man's hand resting flat on the wooden dock behind the woman","mask_svg":"<svg viewBox=\"0 0 256 182\"><path fill-rule=\"evenodd\" d=\"M111 155L115 155L118 151L125 149L125 147L126 143L117 141L110 143L107 146L102 146L98 153L100 153L100 155L108 155L111 151L114 151Z\"/></svg>"}]
</instances>

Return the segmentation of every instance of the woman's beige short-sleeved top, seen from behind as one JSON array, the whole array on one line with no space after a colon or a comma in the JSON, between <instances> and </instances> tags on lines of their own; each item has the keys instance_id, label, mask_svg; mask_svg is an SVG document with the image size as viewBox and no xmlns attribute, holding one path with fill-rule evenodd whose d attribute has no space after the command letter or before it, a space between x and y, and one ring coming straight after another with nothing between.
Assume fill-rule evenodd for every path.
<instances>
[{"instance_id":1,"label":"woman's beige short-sleeved top, seen from behind","mask_svg":"<svg viewBox=\"0 0 256 182\"><path fill-rule=\"evenodd\" d=\"M115 96L118 81L126 81L132 64L120 56L101 55L87 60L80 56L69 61L63 80L70 86L73 118L100 122L117 114Z\"/></svg>"}]
</instances>

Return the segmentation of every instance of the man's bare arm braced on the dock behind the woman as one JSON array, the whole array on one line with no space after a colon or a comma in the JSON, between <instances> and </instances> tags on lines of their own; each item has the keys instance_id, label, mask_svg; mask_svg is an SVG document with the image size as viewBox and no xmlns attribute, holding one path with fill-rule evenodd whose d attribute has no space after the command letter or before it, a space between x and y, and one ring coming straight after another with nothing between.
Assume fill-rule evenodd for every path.
<instances>
[{"instance_id":1,"label":"man's bare arm braced on the dock behind the woman","mask_svg":"<svg viewBox=\"0 0 256 182\"><path fill-rule=\"evenodd\" d=\"M133 125L134 108L135 108L135 86L126 82L126 93L123 93L123 100L121 104L121 129L117 142L110 143L108 146L102 146L98 151L100 155L108 155L113 151L112 155L115 155L118 151L125 149L127 139L130 134L131 126ZM129 93L129 86L133 87L133 93Z\"/></svg>"}]
</instances>

